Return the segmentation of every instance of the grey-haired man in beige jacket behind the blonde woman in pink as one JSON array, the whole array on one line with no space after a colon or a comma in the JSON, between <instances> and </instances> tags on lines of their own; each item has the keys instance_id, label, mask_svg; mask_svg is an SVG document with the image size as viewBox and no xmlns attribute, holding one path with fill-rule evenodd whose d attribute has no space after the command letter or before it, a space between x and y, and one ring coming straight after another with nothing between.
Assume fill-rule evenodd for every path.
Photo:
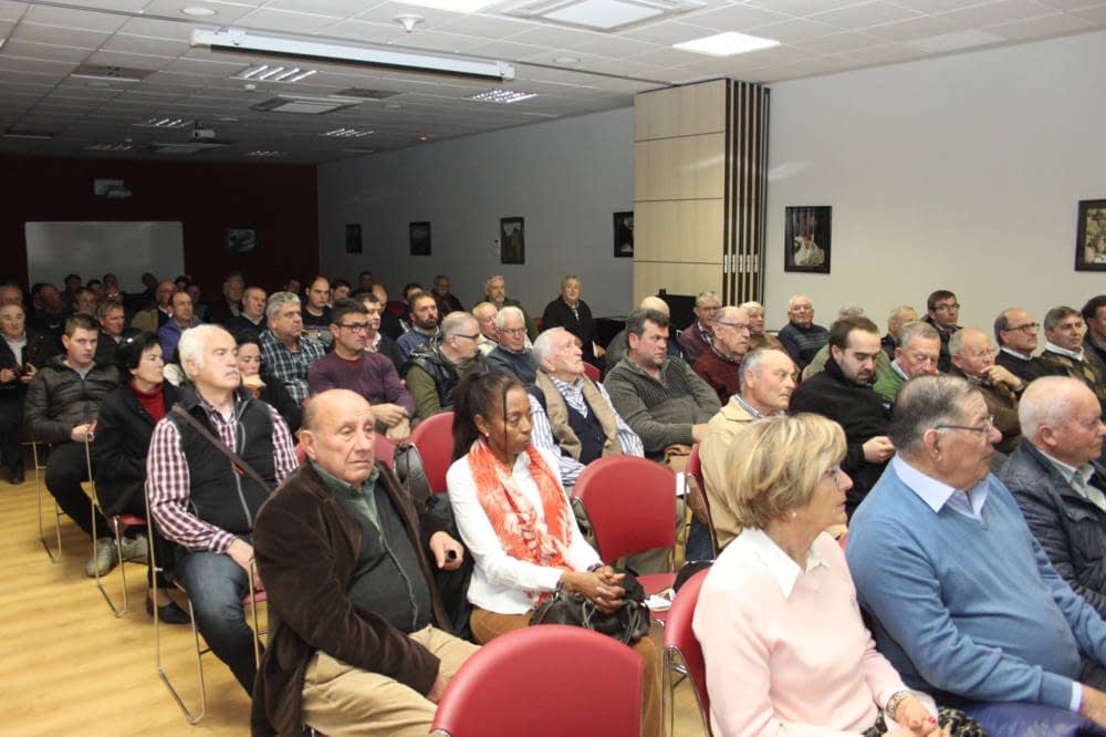
<instances>
[{"instance_id":1,"label":"grey-haired man in beige jacket behind the blonde woman in pink","mask_svg":"<svg viewBox=\"0 0 1106 737\"><path fill-rule=\"evenodd\" d=\"M778 349L750 351L741 360L739 374L741 392L730 397L722 409L711 417L699 444L702 482L707 487L703 491L710 501L719 549L741 532L741 526L726 501L730 446L740 442L741 433L750 423L785 413L799 378L795 362L786 351Z\"/></svg>"}]
</instances>

